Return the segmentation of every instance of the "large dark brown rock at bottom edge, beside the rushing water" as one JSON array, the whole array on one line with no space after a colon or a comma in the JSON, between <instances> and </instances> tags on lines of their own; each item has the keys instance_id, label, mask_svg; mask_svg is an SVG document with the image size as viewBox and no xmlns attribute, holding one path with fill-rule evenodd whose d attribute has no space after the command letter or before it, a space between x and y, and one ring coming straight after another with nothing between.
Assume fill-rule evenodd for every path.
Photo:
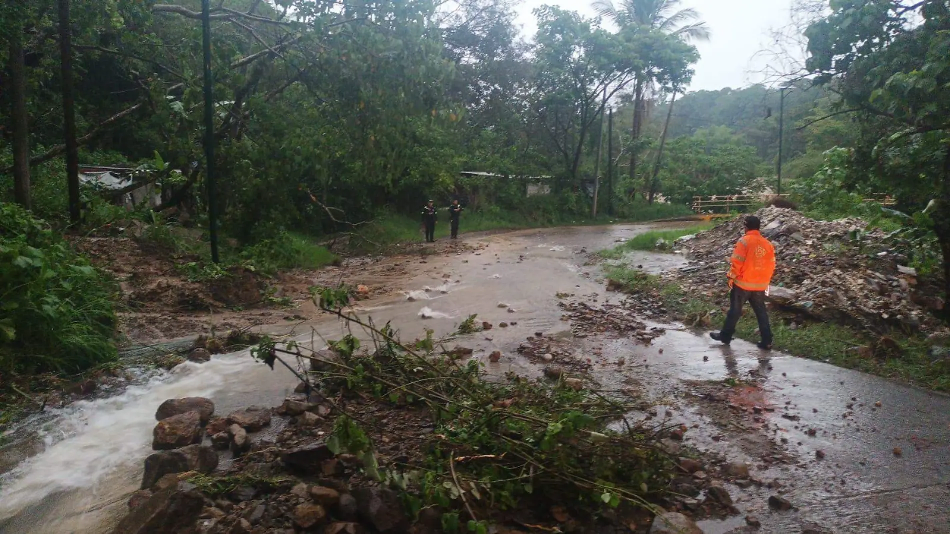
<instances>
[{"instance_id":1,"label":"large dark brown rock at bottom edge, beside the rushing water","mask_svg":"<svg viewBox=\"0 0 950 534\"><path fill-rule=\"evenodd\" d=\"M204 496L187 483L162 489L129 511L112 534L178 534L198 521Z\"/></svg>"}]
</instances>

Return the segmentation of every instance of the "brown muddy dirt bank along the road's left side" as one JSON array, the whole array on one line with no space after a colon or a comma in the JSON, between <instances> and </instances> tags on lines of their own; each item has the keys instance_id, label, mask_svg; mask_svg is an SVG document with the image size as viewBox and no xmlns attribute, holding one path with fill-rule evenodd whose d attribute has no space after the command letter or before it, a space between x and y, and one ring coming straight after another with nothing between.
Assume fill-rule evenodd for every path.
<instances>
[{"instance_id":1,"label":"brown muddy dirt bank along the road's left side","mask_svg":"<svg viewBox=\"0 0 950 534\"><path fill-rule=\"evenodd\" d=\"M409 244L396 256L345 258L316 271L265 277L234 267L224 277L200 279L187 268L199 257L176 257L147 240L75 238L73 243L119 284L120 334L132 345L307 320L318 313L310 293L314 286L362 285L360 297L385 295L409 274L409 257L466 247L457 241Z\"/></svg>"}]
</instances>

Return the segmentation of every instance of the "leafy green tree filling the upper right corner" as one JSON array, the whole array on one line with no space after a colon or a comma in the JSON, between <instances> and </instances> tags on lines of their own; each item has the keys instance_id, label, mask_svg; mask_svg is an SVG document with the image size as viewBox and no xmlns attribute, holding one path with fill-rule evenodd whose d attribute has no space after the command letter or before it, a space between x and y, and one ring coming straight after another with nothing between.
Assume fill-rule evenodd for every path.
<instances>
[{"instance_id":1,"label":"leafy green tree filling the upper right corner","mask_svg":"<svg viewBox=\"0 0 950 534\"><path fill-rule=\"evenodd\" d=\"M851 181L875 181L906 210L926 206L950 297L950 5L836 1L806 36L815 82L860 110Z\"/></svg>"}]
</instances>

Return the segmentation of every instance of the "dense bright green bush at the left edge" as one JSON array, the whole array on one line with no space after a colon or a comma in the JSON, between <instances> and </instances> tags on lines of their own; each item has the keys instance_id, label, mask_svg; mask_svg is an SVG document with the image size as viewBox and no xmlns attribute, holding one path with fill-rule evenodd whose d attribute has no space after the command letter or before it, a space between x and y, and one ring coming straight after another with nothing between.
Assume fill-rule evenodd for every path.
<instances>
[{"instance_id":1,"label":"dense bright green bush at the left edge","mask_svg":"<svg viewBox=\"0 0 950 534\"><path fill-rule=\"evenodd\" d=\"M114 359L115 295L42 220L0 203L0 370L79 372Z\"/></svg>"}]
</instances>

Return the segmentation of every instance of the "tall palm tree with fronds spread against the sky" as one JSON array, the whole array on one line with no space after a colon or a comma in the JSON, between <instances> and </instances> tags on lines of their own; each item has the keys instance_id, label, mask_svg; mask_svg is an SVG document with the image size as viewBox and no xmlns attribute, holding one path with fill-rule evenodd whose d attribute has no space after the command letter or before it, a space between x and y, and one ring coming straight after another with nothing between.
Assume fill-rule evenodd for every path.
<instances>
[{"instance_id":1,"label":"tall palm tree with fronds spread against the sky","mask_svg":"<svg viewBox=\"0 0 950 534\"><path fill-rule=\"evenodd\" d=\"M596 0L592 7L598 14L614 21L621 29L662 31L685 42L706 41L710 29L699 20L699 12L692 8L680 9L682 0L620 0L619 8L612 0ZM644 93L652 79L652 72L637 74L634 86L634 124L630 130L631 143L637 143L643 116L646 114ZM637 177L637 148L630 150L630 181Z\"/></svg>"}]
</instances>

